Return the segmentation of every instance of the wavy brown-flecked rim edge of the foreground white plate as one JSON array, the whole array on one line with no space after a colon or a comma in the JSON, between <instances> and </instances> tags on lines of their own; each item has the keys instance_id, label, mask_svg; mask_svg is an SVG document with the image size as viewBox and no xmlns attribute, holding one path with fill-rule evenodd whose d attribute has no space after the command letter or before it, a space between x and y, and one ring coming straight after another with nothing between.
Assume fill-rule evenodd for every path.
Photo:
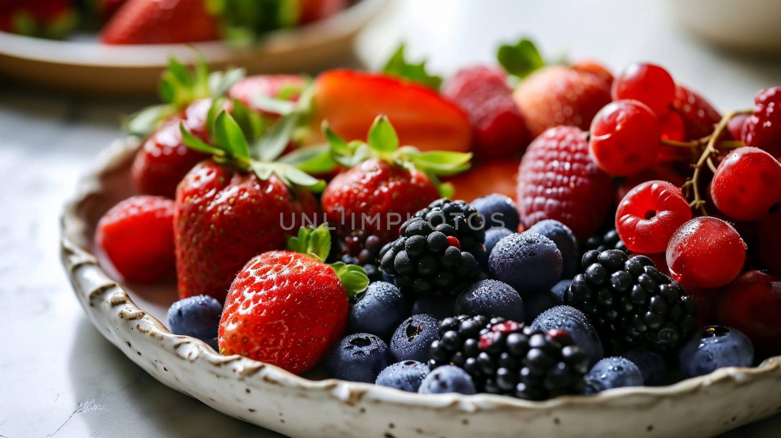
<instances>
[{"instance_id":1,"label":"wavy brown-flecked rim edge of the foreground white plate","mask_svg":"<svg viewBox=\"0 0 781 438\"><path fill-rule=\"evenodd\" d=\"M683 393L696 392L702 386L711 386L719 383L745 385L754 382L754 380L769 378L774 373L781 373L781 356L774 356L765 359L756 367L726 367L717 369L705 376L683 379L672 385L631 386L606 390L590 396L563 396L547 401L526 401L487 393L474 395L453 393L418 394L386 386L377 386L371 383L355 383L339 379L311 380L296 376L275 365L255 361L238 354L222 356L213 351L202 340L170 333L169 329L162 322L148 312L144 312L143 309L138 308L122 285L110 279L98 265L95 255L81 247L81 244L84 244L84 238L78 237L78 233L83 233L87 224L78 215L80 206L91 196L102 192L101 177L127 165L128 160L132 158L140 145L141 141L137 137L125 137L112 142L109 148L105 148L98 155L98 159L87 173L80 178L77 183L76 194L66 202L63 208L59 223L60 257L72 284L73 291L90 318L91 311L87 310L87 306L96 308L94 301L102 297L102 303L106 304L106 306L102 307L104 310L95 312L100 312L110 322L119 324L120 322L143 320L148 324L148 327L146 327L148 331L145 333L155 338L159 349L165 350L164 344L166 343L173 344L175 347L181 344L190 344L196 350L194 353L197 354L197 359L204 358L210 364L218 367L230 365L236 376L240 376L245 381L246 379L262 379L262 381L259 380L258 382L280 384L291 390L326 391L332 396L334 393L338 393L342 394L338 398L347 403L354 400L355 397L360 398L366 393L371 393L373 397L383 402L400 404L409 408L422 406L438 409L453 408L458 413L466 414L476 410L483 411L489 409L550 411L551 409L563 407L594 408L594 406L601 404L629 403L633 398L637 397L650 397L652 399L678 397ZM120 305L122 308L119 312L106 310ZM97 326L94 320L91 322ZM114 340L106 336L106 333L102 330L99 331L103 337L114 343ZM128 357L131 358L130 355ZM261 371L263 372L259 373ZM157 376L155 378L159 379ZM169 385L162 380L161 382ZM179 390L178 388L175 389ZM327 396L328 394L323 395Z\"/></svg>"}]
</instances>

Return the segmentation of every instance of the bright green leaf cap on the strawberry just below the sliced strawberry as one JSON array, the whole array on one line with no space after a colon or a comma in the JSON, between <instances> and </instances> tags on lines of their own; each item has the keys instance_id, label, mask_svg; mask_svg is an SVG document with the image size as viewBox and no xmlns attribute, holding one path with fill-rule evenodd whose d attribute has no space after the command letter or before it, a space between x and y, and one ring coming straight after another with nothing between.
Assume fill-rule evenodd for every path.
<instances>
[{"instance_id":1,"label":"bright green leaf cap on the strawberry just below the sliced strawberry","mask_svg":"<svg viewBox=\"0 0 781 438\"><path fill-rule=\"evenodd\" d=\"M426 173L437 185L443 196L451 194L449 184L440 183L437 176L451 176L469 169L471 153L453 151L419 151L413 146L399 147L398 135L386 116L377 116L369 128L366 142L344 141L328 123L323 122L323 134L330 144L333 159L342 166L356 166L368 158L380 158L383 161L408 168L414 167Z\"/></svg>"}]
</instances>

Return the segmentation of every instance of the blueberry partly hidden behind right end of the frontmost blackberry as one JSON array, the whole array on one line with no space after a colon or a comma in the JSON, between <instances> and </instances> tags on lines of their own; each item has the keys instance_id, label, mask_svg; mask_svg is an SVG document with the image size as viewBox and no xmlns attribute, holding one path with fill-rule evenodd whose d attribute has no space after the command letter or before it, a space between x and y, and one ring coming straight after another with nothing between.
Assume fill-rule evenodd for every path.
<instances>
[{"instance_id":1,"label":"blueberry partly hidden behind right end of the frontmost blackberry","mask_svg":"<svg viewBox=\"0 0 781 438\"><path fill-rule=\"evenodd\" d=\"M588 322L586 315L583 315L583 312L576 308L569 306L549 308L537 316L537 319L532 322L532 328L543 331L566 330L575 344L586 353L592 365L604 357L597 330Z\"/></svg>"}]
</instances>

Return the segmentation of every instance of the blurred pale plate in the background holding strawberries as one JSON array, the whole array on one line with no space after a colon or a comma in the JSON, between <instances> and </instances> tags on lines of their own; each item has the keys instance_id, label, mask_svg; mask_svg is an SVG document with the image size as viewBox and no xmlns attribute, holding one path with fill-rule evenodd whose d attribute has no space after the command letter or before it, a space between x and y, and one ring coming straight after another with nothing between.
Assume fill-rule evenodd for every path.
<instances>
[{"instance_id":1,"label":"blurred pale plate in the background holding strawberries","mask_svg":"<svg viewBox=\"0 0 781 438\"><path fill-rule=\"evenodd\" d=\"M196 48L214 69L242 66L248 73L292 73L344 65L355 37L388 0L361 0L326 20L269 33L259 45L230 48L222 41L193 45L100 45L52 41L0 32L0 74L27 84L88 94L139 94L157 89L169 56L192 62Z\"/></svg>"}]
</instances>

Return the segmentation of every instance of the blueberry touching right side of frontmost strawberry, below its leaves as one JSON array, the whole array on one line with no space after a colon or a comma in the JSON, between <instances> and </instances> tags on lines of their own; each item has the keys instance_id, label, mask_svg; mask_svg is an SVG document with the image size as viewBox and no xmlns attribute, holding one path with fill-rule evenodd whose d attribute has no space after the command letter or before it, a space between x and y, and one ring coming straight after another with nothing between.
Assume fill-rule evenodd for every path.
<instances>
[{"instance_id":1,"label":"blueberry touching right side of frontmost strawberry, below its leaves","mask_svg":"<svg viewBox=\"0 0 781 438\"><path fill-rule=\"evenodd\" d=\"M351 333L372 333L387 339L407 316L404 296L391 283L369 284L366 292L350 308Z\"/></svg>"}]
</instances>

